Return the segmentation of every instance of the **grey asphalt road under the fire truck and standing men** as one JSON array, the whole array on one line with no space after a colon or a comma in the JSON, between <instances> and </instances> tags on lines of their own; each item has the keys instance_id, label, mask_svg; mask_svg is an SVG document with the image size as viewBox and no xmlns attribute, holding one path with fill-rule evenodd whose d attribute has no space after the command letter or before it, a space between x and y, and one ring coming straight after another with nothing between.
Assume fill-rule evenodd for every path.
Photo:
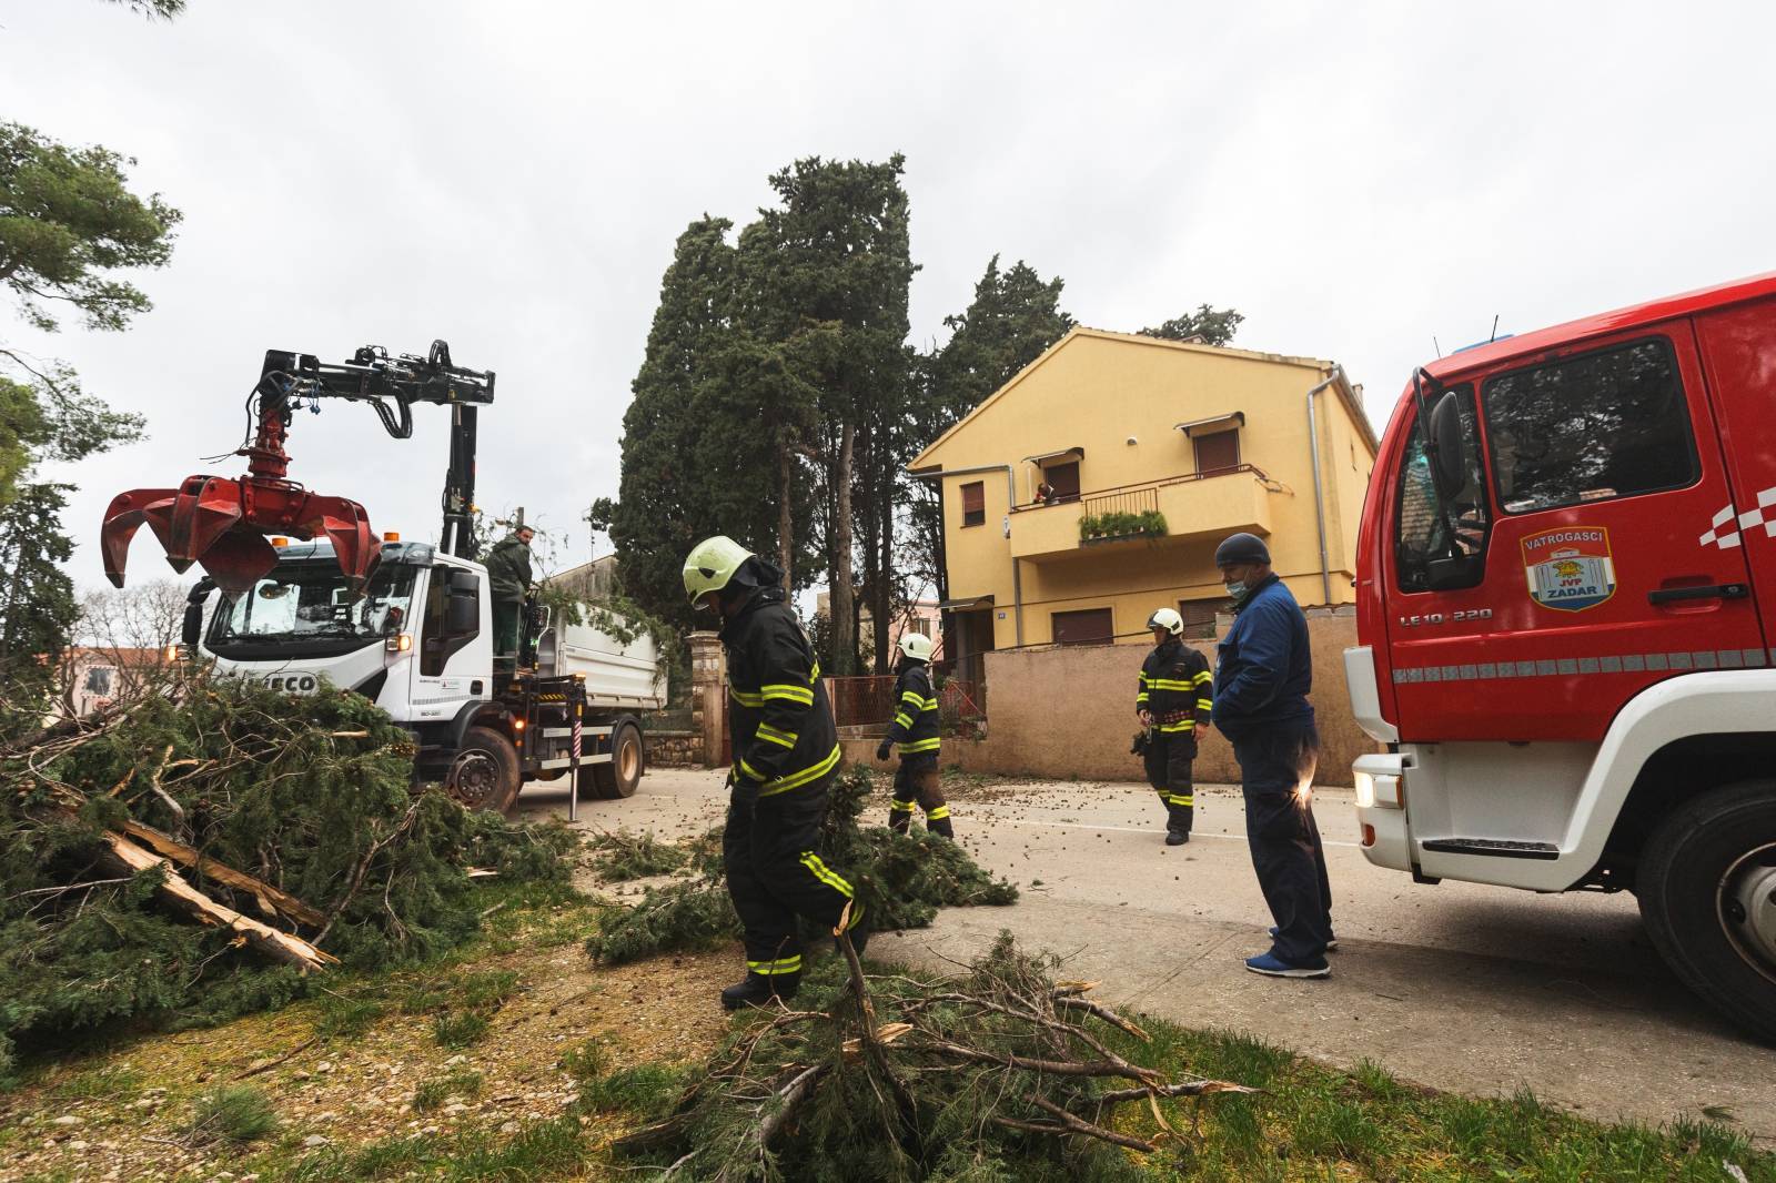
<instances>
[{"instance_id":1,"label":"grey asphalt road under the fire truck and standing men","mask_svg":"<svg viewBox=\"0 0 1776 1183\"><path fill-rule=\"evenodd\" d=\"M581 806L583 826L700 833L721 817L723 774L650 773L629 801ZM565 814L531 785L520 808ZM1193 1027L1227 1027L1350 1066L1469 1094L1531 1087L1600 1117L1650 1123L1730 1114L1776 1142L1776 1050L1716 1018L1661 965L1627 895L1534 895L1414 885L1371 867L1350 794L1320 790L1339 952L1325 981L1247 973L1270 924L1236 789L1197 789L1195 838L1163 846L1146 785L1012 783L966 790L957 837L1023 888L1014 908L957 908L870 952L943 968L1000 929L1101 979L1098 996ZM883 801L886 817L886 799Z\"/></svg>"}]
</instances>

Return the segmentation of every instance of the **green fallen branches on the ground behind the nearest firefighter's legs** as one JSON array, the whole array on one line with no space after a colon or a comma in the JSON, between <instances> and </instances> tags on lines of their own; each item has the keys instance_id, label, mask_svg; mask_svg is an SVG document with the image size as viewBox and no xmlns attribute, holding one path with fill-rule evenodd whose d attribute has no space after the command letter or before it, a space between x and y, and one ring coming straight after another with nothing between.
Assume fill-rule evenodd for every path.
<instances>
[{"instance_id":1,"label":"green fallen branches on the ground behind the nearest firefighter's legs","mask_svg":"<svg viewBox=\"0 0 1776 1183\"><path fill-rule=\"evenodd\" d=\"M1018 901L1016 886L982 870L957 842L924 830L900 835L884 826L863 828L860 817L872 789L874 778L861 766L835 778L821 830L821 858L851 881L872 931L927 927L938 908ZM648 888L634 908L606 911L586 950L599 961L622 965L661 952L712 949L739 936L741 920L723 883L714 837L705 837L693 879ZM821 936L810 934L810 943Z\"/></svg>"}]
</instances>

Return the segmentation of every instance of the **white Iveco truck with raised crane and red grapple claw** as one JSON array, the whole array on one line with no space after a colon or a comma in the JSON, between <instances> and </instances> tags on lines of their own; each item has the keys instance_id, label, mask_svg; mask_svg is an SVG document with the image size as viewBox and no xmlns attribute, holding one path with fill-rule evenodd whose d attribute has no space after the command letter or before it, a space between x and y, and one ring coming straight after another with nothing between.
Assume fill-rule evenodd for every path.
<instances>
[{"instance_id":1,"label":"white Iveco truck with raised crane and red grapple claw","mask_svg":"<svg viewBox=\"0 0 1776 1183\"><path fill-rule=\"evenodd\" d=\"M371 533L362 506L286 478L289 419L320 400L369 401L396 439L410 407L451 407L451 464L439 545ZM352 689L412 732L416 776L465 805L506 810L527 780L574 778L572 803L630 796L646 764L641 718L664 705L654 639L622 618L552 618L526 599L519 650L494 652L492 593L476 561L476 410L494 373L366 346L352 362L270 350L254 387L258 433L242 480L194 476L179 488L119 494L103 552L123 586L128 545L147 524L174 570L195 561L181 641L218 673L304 695ZM270 540L266 533L279 535ZM206 604L220 592L213 611Z\"/></svg>"}]
</instances>

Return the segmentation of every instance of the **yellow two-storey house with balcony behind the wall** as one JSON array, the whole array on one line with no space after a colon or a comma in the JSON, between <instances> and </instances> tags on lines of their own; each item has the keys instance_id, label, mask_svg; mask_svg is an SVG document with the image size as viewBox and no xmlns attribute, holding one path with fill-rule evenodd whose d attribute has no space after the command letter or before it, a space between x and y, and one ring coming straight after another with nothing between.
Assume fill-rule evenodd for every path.
<instances>
[{"instance_id":1,"label":"yellow two-storey house with balcony behind the wall","mask_svg":"<svg viewBox=\"0 0 1776 1183\"><path fill-rule=\"evenodd\" d=\"M950 659L1213 636L1252 531L1304 606L1348 604L1375 432L1334 362L1073 329L909 465L941 488Z\"/></svg>"}]
</instances>

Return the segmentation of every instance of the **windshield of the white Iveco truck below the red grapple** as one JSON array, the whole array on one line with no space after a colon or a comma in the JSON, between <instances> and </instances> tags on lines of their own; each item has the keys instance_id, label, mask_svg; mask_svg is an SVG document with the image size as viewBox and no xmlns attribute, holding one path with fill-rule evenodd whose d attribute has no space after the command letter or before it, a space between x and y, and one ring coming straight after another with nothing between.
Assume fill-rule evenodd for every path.
<instances>
[{"instance_id":1,"label":"windshield of the white Iveco truck below the red grapple","mask_svg":"<svg viewBox=\"0 0 1776 1183\"><path fill-rule=\"evenodd\" d=\"M210 650L231 659L348 654L408 627L414 576L414 567L384 563L352 599L337 563L281 563L250 592L222 597Z\"/></svg>"}]
</instances>

